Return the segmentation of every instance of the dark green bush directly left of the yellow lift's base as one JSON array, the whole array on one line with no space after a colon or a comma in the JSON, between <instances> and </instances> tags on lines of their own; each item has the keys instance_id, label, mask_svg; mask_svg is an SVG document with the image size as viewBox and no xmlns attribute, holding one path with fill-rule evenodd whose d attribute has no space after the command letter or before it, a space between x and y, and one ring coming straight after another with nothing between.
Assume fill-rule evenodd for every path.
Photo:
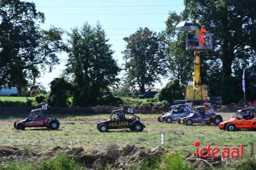
<instances>
[{"instance_id":1,"label":"dark green bush directly left of the yellow lift's base","mask_svg":"<svg viewBox=\"0 0 256 170\"><path fill-rule=\"evenodd\" d=\"M184 99L184 85L180 85L178 79L174 79L164 86L156 95L159 101L167 101L172 104L174 100Z\"/></svg>"}]
</instances>

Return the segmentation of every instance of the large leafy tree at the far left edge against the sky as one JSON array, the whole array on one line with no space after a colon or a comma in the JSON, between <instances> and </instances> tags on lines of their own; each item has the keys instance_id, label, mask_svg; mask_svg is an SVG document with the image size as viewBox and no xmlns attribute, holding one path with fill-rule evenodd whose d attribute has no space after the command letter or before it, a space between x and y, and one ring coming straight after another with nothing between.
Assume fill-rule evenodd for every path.
<instances>
[{"instance_id":1,"label":"large leafy tree at the far left edge against the sky","mask_svg":"<svg viewBox=\"0 0 256 170\"><path fill-rule=\"evenodd\" d=\"M0 84L26 86L35 82L40 71L58 63L57 53L65 50L62 30L41 30L43 13L35 4L21 1L0 1Z\"/></svg>"}]
</instances>

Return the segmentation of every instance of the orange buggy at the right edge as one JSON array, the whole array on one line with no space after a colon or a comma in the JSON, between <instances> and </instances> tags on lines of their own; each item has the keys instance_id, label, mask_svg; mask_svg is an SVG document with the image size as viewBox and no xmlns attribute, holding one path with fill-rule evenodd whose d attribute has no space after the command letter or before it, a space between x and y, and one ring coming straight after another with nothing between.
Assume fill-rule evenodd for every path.
<instances>
[{"instance_id":1,"label":"orange buggy at the right edge","mask_svg":"<svg viewBox=\"0 0 256 170\"><path fill-rule=\"evenodd\" d=\"M253 114L253 109L247 108L238 110L237 113L219 124L221 130L235 131L236 129L256 129L256 117Z\"/></svg>"}]
</instances>

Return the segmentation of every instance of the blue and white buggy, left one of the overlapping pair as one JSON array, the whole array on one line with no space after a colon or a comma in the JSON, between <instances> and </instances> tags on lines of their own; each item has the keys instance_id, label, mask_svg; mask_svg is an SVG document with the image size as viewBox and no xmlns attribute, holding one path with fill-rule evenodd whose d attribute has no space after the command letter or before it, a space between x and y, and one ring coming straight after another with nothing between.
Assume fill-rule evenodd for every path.
<instances>
[{"instance_id":1,"label":"blue and white buggy, left one of the overlapping pair","mask_svg":"<svg viewBox=\"0 0 256 170\"><path fill-rule=\"evenodd\" d=\"M177 122L179 118L188 116L193 110L188 105L173 105L170 106L167 113L163 113L158 117L158 122L172 123Z\"/></svg>"}]
</instances>

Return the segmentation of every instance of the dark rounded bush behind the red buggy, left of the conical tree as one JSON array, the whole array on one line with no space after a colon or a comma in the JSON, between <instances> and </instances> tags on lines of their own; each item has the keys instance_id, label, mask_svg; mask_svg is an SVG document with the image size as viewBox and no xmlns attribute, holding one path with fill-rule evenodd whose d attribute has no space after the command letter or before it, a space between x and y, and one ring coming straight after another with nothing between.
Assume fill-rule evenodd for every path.
<instances>
[{"instance_id":1,"label":"dark rounded bush behind the red buggy, left of the conical tree","mask_svg":"<svg viewBox=\"0 0 256 170\"><path fill-rule=\"evenodd\" d=\"M51 91L47 96L49 106L67 107L67 99L71 95L72 85L63 78L55 78L50 83Z\"/></svg>"}]
</instances>

